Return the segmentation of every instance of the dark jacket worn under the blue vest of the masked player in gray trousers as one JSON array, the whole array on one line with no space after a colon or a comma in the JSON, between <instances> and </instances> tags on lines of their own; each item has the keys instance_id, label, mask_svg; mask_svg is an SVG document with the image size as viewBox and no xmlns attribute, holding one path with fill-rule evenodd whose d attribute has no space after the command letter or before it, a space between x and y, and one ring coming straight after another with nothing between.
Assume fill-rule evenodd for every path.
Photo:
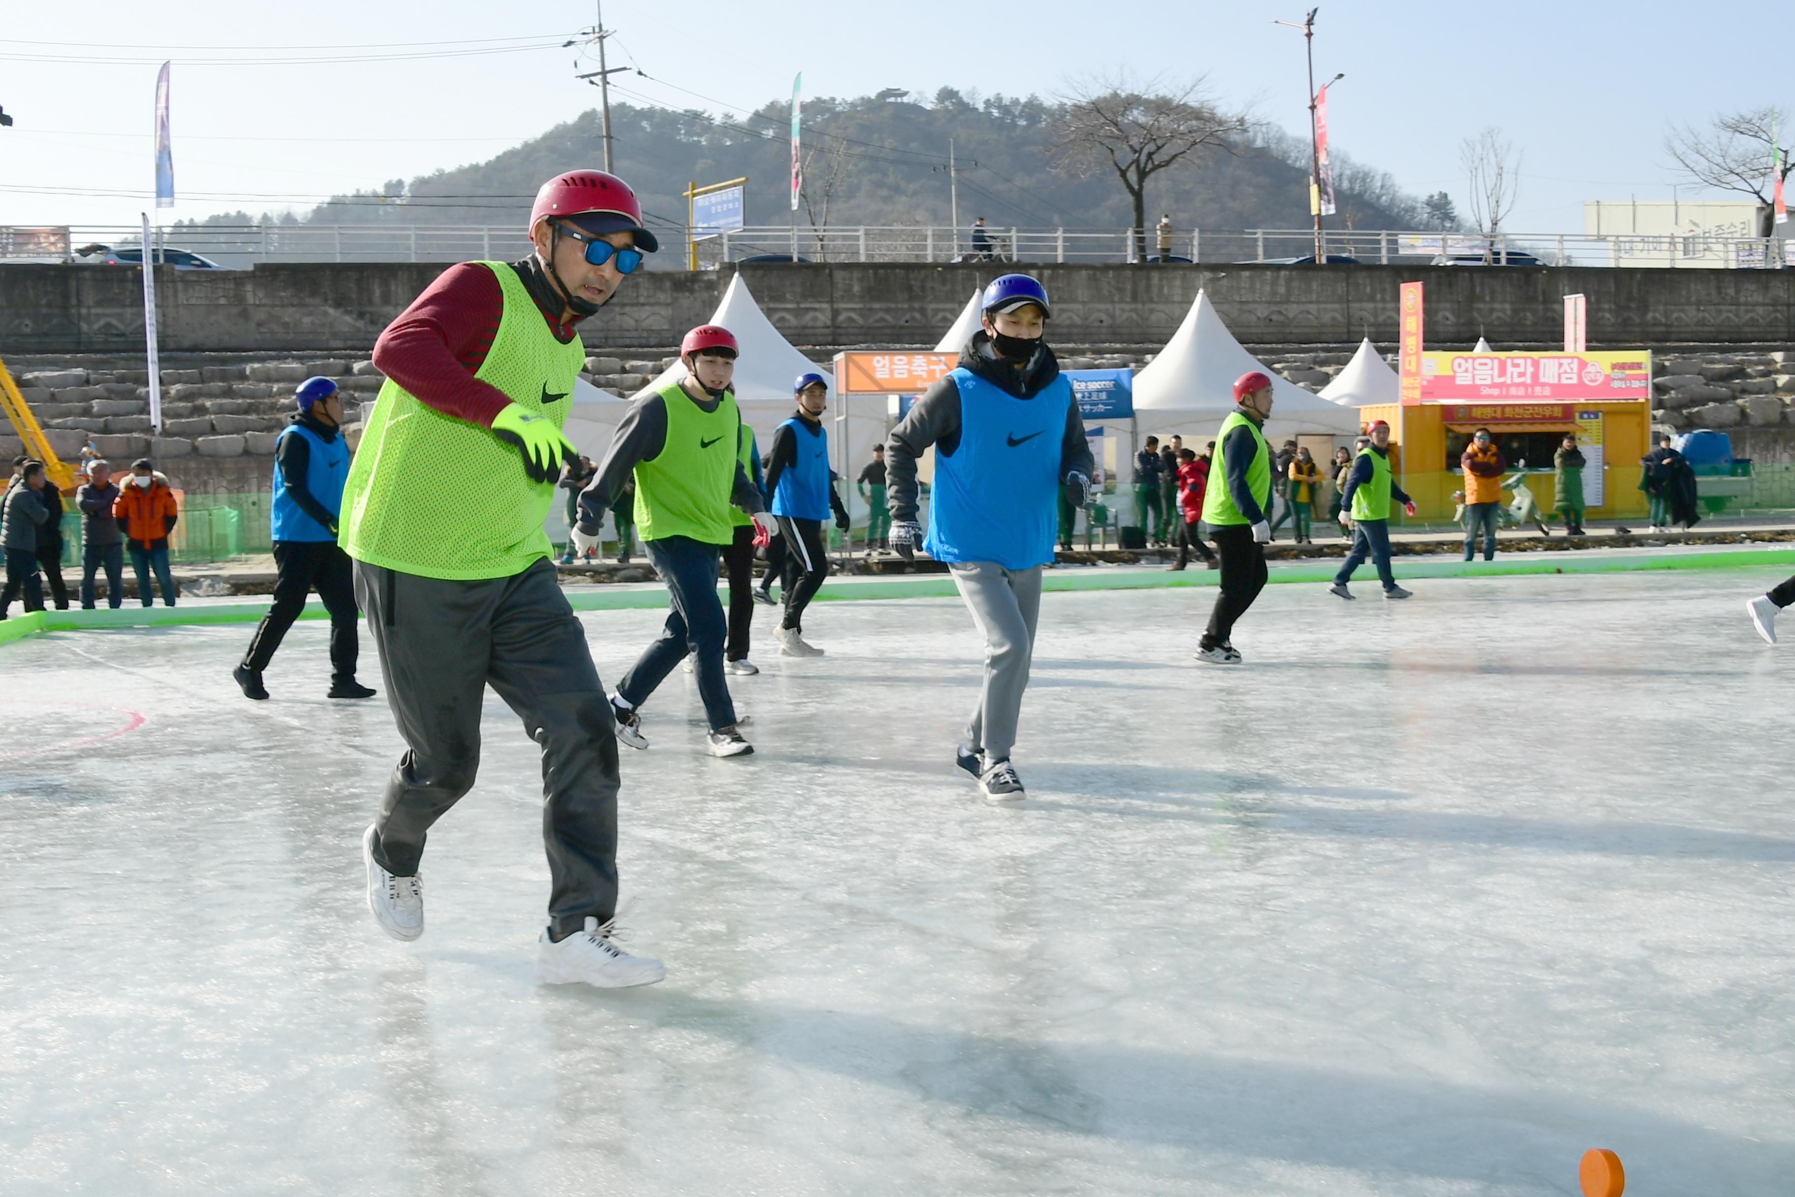
<instances>
[{"instance_id":1,"label":"dark jacket worn under the blue vest of the masked player in gray trousers","mask_svg":"<svg viewBox=\"0 0 1795 1197\"><path fill-rule=\"evenodd\" d=\"M1034 398L1059 377L1059 361L1046 341L1041 341L1029 361L1018 364L996 355L984 328L975 332L973 339L960 350L959 366L1003 388L1016 398ZM960 447L960 386L953 377L930 386L885 441L885 476L889 479L885 502L894 520L915 520L915 459L930 445L944 458L951 458ZM1084 416L1079 415L1079 404L1073 400L1066 406L1066 431L1059 440L1059 477L1061 481L1068 474L1090 477L1093 468L1091 443L1084 438Z\"/></svg>"}]
</instances>

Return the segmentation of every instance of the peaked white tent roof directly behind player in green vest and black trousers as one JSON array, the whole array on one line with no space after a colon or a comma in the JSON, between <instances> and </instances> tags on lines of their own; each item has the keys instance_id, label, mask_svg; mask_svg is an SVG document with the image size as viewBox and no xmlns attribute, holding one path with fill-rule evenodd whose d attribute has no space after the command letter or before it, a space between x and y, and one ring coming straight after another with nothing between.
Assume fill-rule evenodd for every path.
<instances>
[{"instance_id":1,"label":"peaked white tent roof directly behind player in green vest and black trousers","mask_svg":"<svg viewBox=\"0 0 1795 1197\"><path fill-rule=\"evenodd\" d=\"M1134 416L1143 432L1183 431L1185 427L1213 432L1235 409L1233 382L1249 370L1271 375L1273 409L1265 422L1267 436L1294 436L1298 432L1335 432L1352 436L1359 431L1359 415L1339 404L1305 391L1265 370L1265 366L1235 341L1228 325L1215 312L1210 296L1197 293L1185 323L1178 327L1160 355L1134 375Z\"/></svg>"}]
</instances>

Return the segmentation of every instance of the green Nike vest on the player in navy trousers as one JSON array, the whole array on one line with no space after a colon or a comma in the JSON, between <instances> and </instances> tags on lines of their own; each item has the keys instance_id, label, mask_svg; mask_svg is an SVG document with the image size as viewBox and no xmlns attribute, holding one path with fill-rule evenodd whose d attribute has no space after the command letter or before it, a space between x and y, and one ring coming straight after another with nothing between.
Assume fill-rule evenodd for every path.
<instances>
[{"instance_id":1,"label":"green Nike vest on the player in navy trousers","mask_svg":"<svg viewBox=\"0 0 1795 1197\"><path fill-rule=\"evenodd\" d=\"M657 393L668 409L668 440L653 461L635 467L635 531L643 540L729 544L736 538L729 499L741 461L736 393L725 391L716 411L700 409L679 382Z\"/></svg>"}]
</instances>

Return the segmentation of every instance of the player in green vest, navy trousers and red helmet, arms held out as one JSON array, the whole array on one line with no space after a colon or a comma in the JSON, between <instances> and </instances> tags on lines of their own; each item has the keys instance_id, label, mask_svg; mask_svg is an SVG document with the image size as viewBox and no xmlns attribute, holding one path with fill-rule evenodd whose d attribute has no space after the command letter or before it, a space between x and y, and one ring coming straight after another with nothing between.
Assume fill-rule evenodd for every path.
<instances>
[{"instance_id":1,"label":"player in green vest, navy trousers and red helmet, arms held out","mask_svg":"<svg viewBox=\"0 0 1795 1197\"><path fill-rule=\"evenodd\" d=\"M612 716L617 739L646 748L641 707L687 657L698 678L698 698L711 725L711 756L754 752L729 696L723 650L729 623L716 598L722 551L736 538L734 508L757 526L756 540L772 533L761 488L743 465L741 411L731 380L740 346L729 328L700 325L680 343L686 377L630 404L617 422L598 477L580 495L574 544L598 542L605 510L617 501L623 479L635 477L635 524L643 549L668 587L668 619L617 682Z\"/></svg>"}]
</instances>

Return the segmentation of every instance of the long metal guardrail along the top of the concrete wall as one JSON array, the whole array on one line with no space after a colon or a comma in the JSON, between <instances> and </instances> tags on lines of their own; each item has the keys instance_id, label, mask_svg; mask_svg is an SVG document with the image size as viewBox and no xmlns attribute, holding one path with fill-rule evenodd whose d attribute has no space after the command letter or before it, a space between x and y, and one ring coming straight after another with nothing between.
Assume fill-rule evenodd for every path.
<instances>
[{"instance_id":1,"label":"long metal guardrail along the top of the concrete wall","mask_svg":"<svg viewBox=\"0 0 1795 1197\"><path fill-rule=\"evenodd\" d=\"M187 249L230 269L257 262L467 262L513 260L530 253L515 224L212 224L158 230L158 248ZM81 262L86 246L140 248L138 226L0 226L0 262ZM684 230L664 230L664 242ZM675 244L668 244L673 249ZM1314 260L1314 230L1181 230L1145 239L1125 228L946 228L932 224L749 226L698 242L700 269L752 258L804 262L1289 262ZM1775 269L1795 266L1795 240L1775 237L1477 233L1328 230L1330 257L1357 262L1425 266L1605 266L1659 269ZM97 260L101 255L86 255ZM659 255L659 269L679 269L686 255Z\"/></svg>"}]
</instances>

